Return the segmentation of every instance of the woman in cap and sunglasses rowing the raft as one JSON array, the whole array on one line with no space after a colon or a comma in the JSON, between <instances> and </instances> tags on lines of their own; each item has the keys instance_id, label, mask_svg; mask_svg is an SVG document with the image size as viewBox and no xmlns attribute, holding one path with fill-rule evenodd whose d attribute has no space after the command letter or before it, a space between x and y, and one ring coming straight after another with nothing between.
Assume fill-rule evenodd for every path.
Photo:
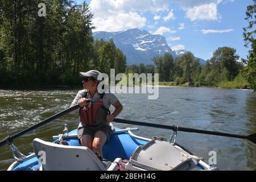
<instances>
[{"instance_id":1,"label":"woman in cap and sunglasses rowing the raft","mask_svg":"<svg viewBox=\"0 0 256 182\"><path fill-rule=\"evenodd\" d=\"M98 93L97 87L100 82L97 78L101 73L90 70L86 73L80 72L83 77L82 84L85 90L80 90L72 102L72 105L79 104L80 123L77 130L77 137L82 146L90 148L103 158L102 147L112 132L109 122L122 111L122 104L112 93ZM90 103L86 103L86 100ZM115 110L110 114L109 107L113 105ZM76 111L72 111L75 113Z\"/></svg>"}]
</instances>

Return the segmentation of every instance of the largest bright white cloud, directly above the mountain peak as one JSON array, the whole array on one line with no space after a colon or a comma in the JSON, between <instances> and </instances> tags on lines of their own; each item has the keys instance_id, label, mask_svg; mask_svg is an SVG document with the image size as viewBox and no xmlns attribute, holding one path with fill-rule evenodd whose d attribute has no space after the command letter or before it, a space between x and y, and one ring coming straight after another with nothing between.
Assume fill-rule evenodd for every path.
<instances>
[{"instance_id":1,"label":"largest bright white cloud, directly above the mountain peak","mask_svg":"<svg viewBox=\"0 0 256 182\"><path fill-rule=\"evenodd\" d=\"M167 0L92 0L89 6L94 14L94 31L121 31L143 27L146 18L142 13L166 11L169 4Z\"/></svg>"}]
</instances>

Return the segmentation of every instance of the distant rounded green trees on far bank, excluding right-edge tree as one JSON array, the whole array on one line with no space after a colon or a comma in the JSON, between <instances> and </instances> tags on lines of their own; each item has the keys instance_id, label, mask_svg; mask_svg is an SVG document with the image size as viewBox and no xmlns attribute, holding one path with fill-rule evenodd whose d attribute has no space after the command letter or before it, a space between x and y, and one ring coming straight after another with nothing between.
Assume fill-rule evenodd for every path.
<instances>
[{"instance_id":1,"label":"distant rounded green trees on far bank, excluding right-edge tree","mask_svg":"<svg viewBox=\"0 0 256 182\"><path fill-rule=\"evenodd\" d=\"M155 65L131 65L127 69L138 73L159 73L160 82L174 82L175 85L217 86L221 81L233 81L238 76L243 68L238 58L236 49L220 47L205 65L200 64L191 52L176 59L165 53L152 59Z\"/></svg>"}]
</instances>

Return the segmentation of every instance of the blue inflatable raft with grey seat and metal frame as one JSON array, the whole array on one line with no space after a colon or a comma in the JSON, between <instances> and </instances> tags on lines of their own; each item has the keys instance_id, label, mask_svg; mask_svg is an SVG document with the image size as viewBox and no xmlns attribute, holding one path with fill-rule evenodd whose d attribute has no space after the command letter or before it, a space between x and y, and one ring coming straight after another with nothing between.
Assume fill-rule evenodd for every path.
<instances>
[{"instance_id":1,"label":"blue inflatable raft with grey seat and metal frame","mask_svg":"<svg viewBox=\"0 0 256 182\"><path fill-rule=\"evenodd\" d=\"M119 129L112 125L112 129L113 132L110 139L103 147L103 160L100 160L89 148L81 146L77 139L77 129L68 132L67 125L65 125L64 133L53 136L53 142L45 142L38 138L34 139L34 152L29 153L27 156L21 154L18 148L11 144L11 151L16 161L7 170L116 171L120 170L120 166L127 170L136 171L217 170L216 167L203 162L203 159L194 156L190 151L175 143L175 141L171 143L164 139L139 137L132 132L137 131L137 128ZM176 135L174 138L176 139ZM68 146L58 144L60 140L65 140ZM171 150L165 152L169 156L159 154L163 150ZM15 152L18 157L16 157ZM174 156L177 156L177 159ZM163 166L161 166L162 163L164 163ZM194 167L192 167L192 164Z\"/></svg>"}]
</instances>

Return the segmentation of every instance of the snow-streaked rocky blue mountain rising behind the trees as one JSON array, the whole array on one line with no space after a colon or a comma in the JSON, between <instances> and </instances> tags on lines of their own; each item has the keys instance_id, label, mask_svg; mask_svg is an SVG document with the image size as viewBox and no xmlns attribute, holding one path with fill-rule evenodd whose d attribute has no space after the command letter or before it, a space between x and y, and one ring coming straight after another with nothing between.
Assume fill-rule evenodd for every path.
<instances>
[{"instance_id":1,"label":"snow-streaked rocky blue mountain rising behind the trees","mask_svg":"<svg viewBox=\"0 0 256 182\"><path fill-rule=\"evenodd\" d=\"M99 31L93 33L94 39L109 41L113 39L115 46L126 55L127 65L131 64L154 64L151 60L155 56L163 56L169 52L174 59L182 56L185 50L173 51L167 44L166 38L162 35L152 35L145 30L133 28L119 32ZM200 63L205 61L200 59Z\"/></svg>"}]
</instances>

